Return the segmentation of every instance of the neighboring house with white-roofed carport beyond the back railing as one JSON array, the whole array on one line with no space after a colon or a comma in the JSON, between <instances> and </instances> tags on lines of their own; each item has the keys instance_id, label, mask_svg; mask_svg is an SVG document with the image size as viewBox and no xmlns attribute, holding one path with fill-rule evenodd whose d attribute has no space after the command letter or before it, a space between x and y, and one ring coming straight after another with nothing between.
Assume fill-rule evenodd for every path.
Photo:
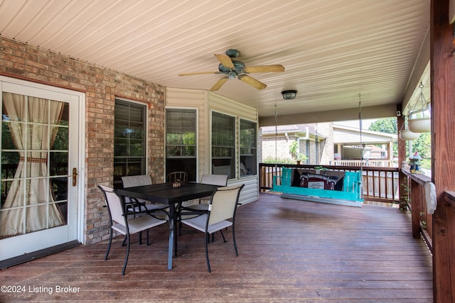
<instances>
[{"instance_id":1,"label":"neighboring house with white-roofed carport beyond the back railing","mask_svg":"<svg viewBox=\"0 0 455 303\"><path fill-rule=\"evenodd\" d=\"M308 130L308 131L307 131ZM289 145L298 141L311 165L336 165L333 160L392 160L396 134L362 130L333 123L267 126L262 132L262 160L291 158ZM276 142L276 144L275 144ZM363 157L362 157L362 145ZM381 147L378 147L381 145Z\"/></svg>"}]
</instances>

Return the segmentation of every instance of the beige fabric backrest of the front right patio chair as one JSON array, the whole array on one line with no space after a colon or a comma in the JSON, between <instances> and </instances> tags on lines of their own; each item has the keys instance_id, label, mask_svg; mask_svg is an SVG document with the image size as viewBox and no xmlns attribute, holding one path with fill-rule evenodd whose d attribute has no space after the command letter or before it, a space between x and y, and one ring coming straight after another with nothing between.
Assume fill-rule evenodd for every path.
<instances>
[{"instance_id":1,"label":"beige fabric backrest of the front right patio chair","mask_svg":"<svg viewBox=\"0 0 455 303\"><path fill-rule=\"evenodd\" d=\"M208 225L232 219L235 216L240 190L244 186L245 184L219 187L213 193L209 206L210 215L208 216Z\"/></svg>"}]
</instances>

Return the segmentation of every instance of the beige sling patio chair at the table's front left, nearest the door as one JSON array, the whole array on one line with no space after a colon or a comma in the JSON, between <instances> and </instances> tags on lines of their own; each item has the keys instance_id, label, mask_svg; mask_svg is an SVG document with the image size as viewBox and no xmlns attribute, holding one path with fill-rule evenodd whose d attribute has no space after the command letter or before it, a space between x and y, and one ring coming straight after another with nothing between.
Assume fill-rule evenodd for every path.
<instances>
[{"instance_id":1,"label":"beige sling patio chair at the table's front left, nearest the door","mask_svg":"<svg viewBox=\"0 0 455 303\"><path fill-rule=\"evenodd\" d=\"M125 256L122 270L122 275L124 275L128 263L130 235L133 233L146 231L147 245L150 245L149 228L164 224L166 223L166 220L157 219L154 216L146 213L137 216L128 215L125 212L124 202L122 202L122 198L119 196L119 194L117 194L117 192L115 192L114 189L102 185L98 185L98 188L101 189L105 196L105 202L107 209L109 210L109 221L111 224L109 246L107 246L105 260L107 260L107 255L109 255L109 250L111 249L113 231L117 231L117 233L124 235L125 239L127 240L127 255ZM122 246L124 246L124 244L122 244Z\"/></svg>"}]
</instances>

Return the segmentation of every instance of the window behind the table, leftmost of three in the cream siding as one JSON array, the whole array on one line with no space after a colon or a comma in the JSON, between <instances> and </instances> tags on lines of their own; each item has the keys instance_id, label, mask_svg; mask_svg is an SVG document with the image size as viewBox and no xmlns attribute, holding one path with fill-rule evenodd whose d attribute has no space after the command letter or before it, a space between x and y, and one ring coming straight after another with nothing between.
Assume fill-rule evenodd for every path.
<instances>
[{"instance_id":1,"label":"window behind the table, leftmost of three in the cream siding","mask_svg":"<svg viewBox=\"0 0 455 303\"><path fill-rule=\"evenodd\" d=\"M196 181L196 109L166 109L166 175L184 171Z\"/></svg>"}]
</instances>

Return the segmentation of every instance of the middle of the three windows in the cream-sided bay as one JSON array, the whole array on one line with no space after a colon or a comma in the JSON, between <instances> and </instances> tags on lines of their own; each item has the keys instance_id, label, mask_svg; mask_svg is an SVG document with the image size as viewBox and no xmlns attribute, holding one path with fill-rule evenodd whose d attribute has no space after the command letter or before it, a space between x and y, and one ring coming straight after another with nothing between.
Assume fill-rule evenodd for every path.
<instances>
[{"instance_id":1,"label":"middle of the three windows in the cream-sided bay","mask_svg":"<svg viewBox=\"0 0 455 303\"><path fill-rule=\"evenodd\" d=\"M212 173L235 177L235 117L212 113Z\"/></svg>"}]
</instances>

